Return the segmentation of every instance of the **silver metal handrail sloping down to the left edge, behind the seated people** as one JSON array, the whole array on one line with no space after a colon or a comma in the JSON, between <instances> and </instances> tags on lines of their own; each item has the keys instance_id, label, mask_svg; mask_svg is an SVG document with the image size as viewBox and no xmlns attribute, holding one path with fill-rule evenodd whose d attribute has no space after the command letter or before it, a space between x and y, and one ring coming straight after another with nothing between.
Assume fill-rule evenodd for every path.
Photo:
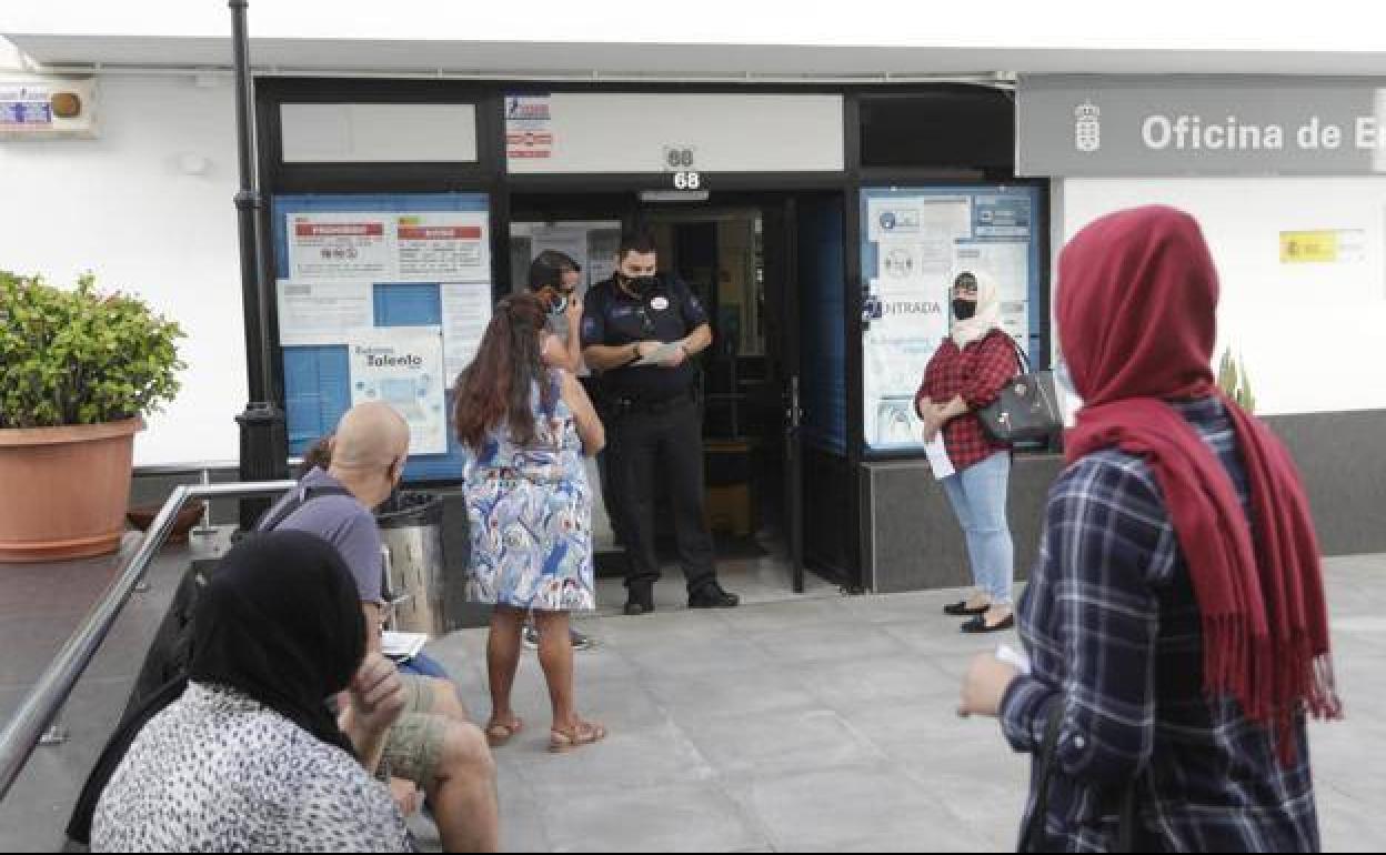
<instances>
[{"instance_id":1,"label":"silver metal handrail sloping down to the left edge, behind the seated people","mask_svg":"<svg viewBox=\"0 0 1386 855\"><path fill-rule=\"evenodd\" d=\"M68 703L72 689L86 673L105 637L111 633L116 618L125 610L136 586L148 572L154 556L158 554L173 521L183 506L193 499L249 499L286 493L294 488L294 481L262 481L255 484L195 484L183 485L164 503L158 517L150 525L140 547L125 563L115 581L105 589L97 604L87 612L82 626L72 633L58 655L39 678L33 690L25 697L19 711L0 733L0 802L10 794L10 787L24 772L43 737L44 730L58 716Z\"/></svg>"}]
</instances>

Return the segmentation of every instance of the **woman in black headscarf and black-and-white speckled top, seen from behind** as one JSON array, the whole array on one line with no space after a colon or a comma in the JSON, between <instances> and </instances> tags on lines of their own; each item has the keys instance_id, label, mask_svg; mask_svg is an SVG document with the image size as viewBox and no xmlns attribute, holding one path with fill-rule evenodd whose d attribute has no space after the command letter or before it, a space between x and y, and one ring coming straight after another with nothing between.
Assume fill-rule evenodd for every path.
<instances>
[{"instance_id":1,"label":"woman in black headscarf and black-and-white speckled top, seen from behind","mask_svg":"<svg viewBox=\"0 0 1386 855\"><path fill-rule=\"evenodd\" d=\"M399 712L365 657L356 585L331 545L243 542L200 594L182 697L151 716L175 694L162 693L107 750L128 746L93 851L407 851L389 791L356 759ZM355 744L328 709L344 691Z\"/></svg>"}]
</instances>

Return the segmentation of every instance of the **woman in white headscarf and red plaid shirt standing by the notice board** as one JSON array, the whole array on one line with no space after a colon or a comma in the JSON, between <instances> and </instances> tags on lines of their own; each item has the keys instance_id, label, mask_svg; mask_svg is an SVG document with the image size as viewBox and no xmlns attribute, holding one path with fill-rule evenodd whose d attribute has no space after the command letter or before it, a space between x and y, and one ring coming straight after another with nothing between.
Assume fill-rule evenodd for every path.
<instances>
[{"instance_id":1,"label":"woman in white headscarf and red plaid shirt standing by the notice board","mask_svg":"<svg viewBox=\"0 0 1386 855\"><path fill-rule=\"evenodd\" d=\"M977 410L994 403L1020 373L1016 344L1001 330L1001 297L983 273L962 272L952 287L952 333L924 369L915 410L924 421L924 441L942 434L952 475L942 479L958 514L976 593L944 608L969 617L963 632L999 632L1015 626L1010 589L1015 543L1006 521L1010 446L981 427Z\"/></svg>"}]
</instances>

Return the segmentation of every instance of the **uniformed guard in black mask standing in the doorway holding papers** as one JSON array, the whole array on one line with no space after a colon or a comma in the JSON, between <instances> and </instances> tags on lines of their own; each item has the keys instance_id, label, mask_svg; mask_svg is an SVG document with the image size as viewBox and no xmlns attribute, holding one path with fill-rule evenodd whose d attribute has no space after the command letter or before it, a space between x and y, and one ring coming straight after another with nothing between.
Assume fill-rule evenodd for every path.
<instances>
[{"instance_id":1,"label":"uniformed guard in black mask standing in the doorway holding papers","mask_svg":"<svg viewBox=\"0 0 1386 855\"><path fill-rule=\"evenodd\" d=\"M740 604L717 581L703 517L703 410L693 358L711 345L707 310L686 284L658 274L654 240L639 231L622 236L615 276L588 294L582 353L600 376L610 410L607 455L629 556L628 615L654 611L657 484L669 489L689 607Z\"/></svg>"}]
</instances>

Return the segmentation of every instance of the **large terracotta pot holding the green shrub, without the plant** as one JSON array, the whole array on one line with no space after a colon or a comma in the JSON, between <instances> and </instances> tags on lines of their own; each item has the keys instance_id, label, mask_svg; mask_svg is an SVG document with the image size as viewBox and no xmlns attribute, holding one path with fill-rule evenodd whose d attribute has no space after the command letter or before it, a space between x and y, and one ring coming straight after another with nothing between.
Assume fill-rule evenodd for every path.
<instances>
[{"instance_id":1,"label":"large terracotta pot holding the green shrub, without the plant","mask_svg":"<svg viewBox=\"0 0 1386 855\"><path fill-rule=\"evenodd\" d=\"M0 430L0 563L89 558L119 549L141 430L140 418Z\"/></svg>"}]
</instances>

